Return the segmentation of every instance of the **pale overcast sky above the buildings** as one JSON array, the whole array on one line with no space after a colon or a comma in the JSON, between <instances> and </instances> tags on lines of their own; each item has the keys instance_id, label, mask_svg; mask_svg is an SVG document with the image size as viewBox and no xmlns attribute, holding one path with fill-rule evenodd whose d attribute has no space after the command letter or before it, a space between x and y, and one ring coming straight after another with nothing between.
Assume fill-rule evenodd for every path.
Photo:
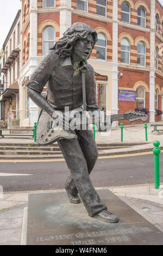
<instances>
[{"instance_id":1,"label":"pale overcast sky above the buildings","mask_svg":"<svg viewBox=\"0 0 163 256\"><path fill-rule=\"evenodd\" d=\"M163 0L159 1L163 5ZM20 0L0 0L0 50L19 9Z\"/></svg>"}]
</instances>

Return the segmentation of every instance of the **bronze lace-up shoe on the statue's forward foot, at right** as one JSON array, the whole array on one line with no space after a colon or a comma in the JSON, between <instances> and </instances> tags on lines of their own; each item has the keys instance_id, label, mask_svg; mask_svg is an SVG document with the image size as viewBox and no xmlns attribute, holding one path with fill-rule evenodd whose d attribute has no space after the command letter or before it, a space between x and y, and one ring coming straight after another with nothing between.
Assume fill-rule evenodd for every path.
<instances>
[{"instance_id":1,"label":"bronze lace-up shoe on the statue's forward foot, at right","mask_svg":"<svg viewBox=\"0 0 163 256\"><path fill-rule=\"evenodd\" d=\"M117 223L119 221L118 217L108 210L103 210L96 215L93 215L92 218L96 218L99 219L99 221L108 223Z\"/></svg>"}]
</instances>

